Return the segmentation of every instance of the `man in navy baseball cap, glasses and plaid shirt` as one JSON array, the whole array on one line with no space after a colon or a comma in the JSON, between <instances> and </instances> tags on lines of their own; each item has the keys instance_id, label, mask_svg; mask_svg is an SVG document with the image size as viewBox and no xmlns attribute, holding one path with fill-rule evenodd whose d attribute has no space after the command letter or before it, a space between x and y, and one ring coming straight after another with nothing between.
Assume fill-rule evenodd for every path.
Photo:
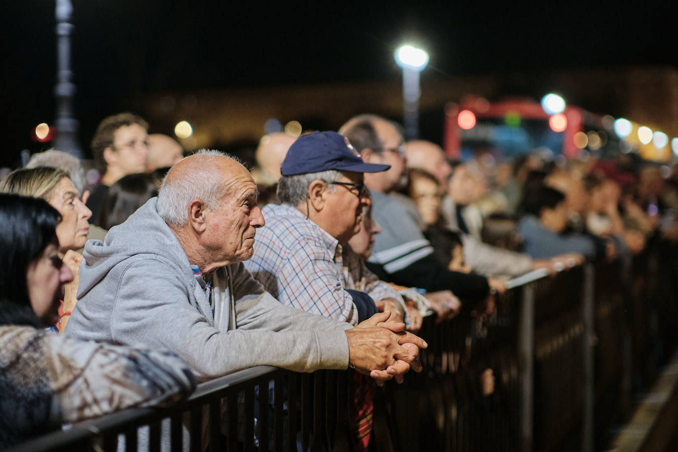
<instances>
[{"instance_id":1,"label":"man in navy baseball cap, glasses and plaid shirt","mask_svg":"<svg viewBox=\"0 0 678 452\"><path fill-rule=\"evenodd\" d=\"M336 132L298 138L281 165L281 205L262 209L266 226L257 233L247 270L283 304L351 325L363 321L374 302L345 287L342 247L359 231L363 207L370 204L363 173L388 167L364 163ZM384 300L392 319L409 320L390 285L381 282L367 295Z\"/></svg>"}]
</instances>

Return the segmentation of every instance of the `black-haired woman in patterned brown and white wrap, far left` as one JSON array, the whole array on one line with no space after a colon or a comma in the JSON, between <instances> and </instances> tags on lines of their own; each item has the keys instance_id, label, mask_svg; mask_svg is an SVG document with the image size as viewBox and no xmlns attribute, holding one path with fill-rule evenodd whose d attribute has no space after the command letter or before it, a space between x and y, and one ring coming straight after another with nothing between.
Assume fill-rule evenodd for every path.
<instances>
[{"instance_id":1,"label":"black-haired woman in patterned brown and white wrap, far left","mask_svg":"<svg viewBox=\"0 0 678 452\"><path fill-rule=\"evenodd\" d=\"M46 201L0 194L0 449L60 424L167 404L195 388L175 354L49 334L60 289L60 215Z\"/></svg>"}]
</instances>

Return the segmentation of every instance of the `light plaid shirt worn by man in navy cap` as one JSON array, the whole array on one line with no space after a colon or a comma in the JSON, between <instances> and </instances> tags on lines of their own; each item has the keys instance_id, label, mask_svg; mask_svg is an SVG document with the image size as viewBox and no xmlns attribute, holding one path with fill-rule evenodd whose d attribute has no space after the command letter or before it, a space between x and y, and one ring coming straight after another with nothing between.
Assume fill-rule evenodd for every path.
<instances>
[{"instance_id":1,"label":"light plaid shirt worn by man in navy cap","mask_svg":"<svg viewBox=\"0 0 678 452\"><path fill-rule=\"evenodd\" d=\"M357 325L358 311L345 289L367 289L375 300L384 293L400 298L386 283L356 287L344 271L342 246L298 209L269 204L262 213L266 226L257 231L245 267L281 303Z\"/></svg>"}]
</instances>

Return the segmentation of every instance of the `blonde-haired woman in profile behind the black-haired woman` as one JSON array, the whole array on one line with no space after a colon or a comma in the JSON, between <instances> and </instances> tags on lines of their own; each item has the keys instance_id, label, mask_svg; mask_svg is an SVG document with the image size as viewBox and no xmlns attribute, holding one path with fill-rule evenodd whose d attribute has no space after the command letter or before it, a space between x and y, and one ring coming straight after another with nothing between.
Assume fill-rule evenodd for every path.
<instances>
[{"instance_id":1,"label":"blonde-haired woman in profile behind the black-haired woman","mask_svg":"<svg viewBox=\"0 0 678 452\"><path fill-rule=\"evenodd\" d=\"M56 327L63 331L77 302L78 267L83 257L75 250L85 246L89 231L87 220L92 211L80 201L68 174L58 168L17 169L0 181L0 192L42 198L61 215L61 222L56 226L59 252L74 276L71 283L64 285L64 304L56 323Z\"/></svg>"}]
</instances>

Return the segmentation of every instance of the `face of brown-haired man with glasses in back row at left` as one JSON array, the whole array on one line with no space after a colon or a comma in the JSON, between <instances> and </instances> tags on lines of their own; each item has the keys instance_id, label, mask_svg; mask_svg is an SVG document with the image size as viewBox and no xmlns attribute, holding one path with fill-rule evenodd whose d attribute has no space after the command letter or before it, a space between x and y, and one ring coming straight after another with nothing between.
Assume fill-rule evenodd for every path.
<instances>
[{"instance_id":1,"label":"face of brown-haired man with glasses in back row at left","mask_svg":"<svg viewBox=\"0 0 678 452\"><path fill-rule=\"evenodd\" d=\"M123 176L146 171L148 133L138 124L123 125L113 133L113 152L108 165L115 166Z\"/></svg>"}]
</instances>

